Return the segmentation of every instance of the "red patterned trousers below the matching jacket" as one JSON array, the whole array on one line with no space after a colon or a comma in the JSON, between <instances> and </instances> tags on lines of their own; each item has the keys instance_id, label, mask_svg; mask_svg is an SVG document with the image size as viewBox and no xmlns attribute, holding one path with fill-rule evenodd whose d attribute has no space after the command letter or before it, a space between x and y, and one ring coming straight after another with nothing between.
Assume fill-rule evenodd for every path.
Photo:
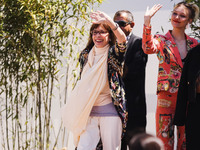
<instances>
[{"instance_id":1,"label":"red patterned trousers below the matching jacket","mask_svg":"<svg viewBox=\"0 0 200 150\"><path fill-rule=\"evenodd\" d=\"M156 109L156 135L164 144L165 150L174 149L173 118L176 109L176 93L159 92ZM177 127L177 150L186 149L185 126Z\"/></svg>"}]
</instances>

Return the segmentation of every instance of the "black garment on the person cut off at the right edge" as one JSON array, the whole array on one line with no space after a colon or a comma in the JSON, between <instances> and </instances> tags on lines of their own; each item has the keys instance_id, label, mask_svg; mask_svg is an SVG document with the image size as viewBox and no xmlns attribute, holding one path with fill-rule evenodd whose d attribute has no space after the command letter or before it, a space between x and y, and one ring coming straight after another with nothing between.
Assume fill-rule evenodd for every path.
<instances>
[{"instance_id":1,"label":"black garment on the person cut off at the right edge","mask_svg":"<svg viewBox=\"0 0 200 150\"><path fill-rule=\"evenodd\" d=\"M196 79L200 75L200 45L186 57L177 96L174 124L186 125L186 149L199 149L200 94L196 93Z\"/></svg>"}]
</instances>

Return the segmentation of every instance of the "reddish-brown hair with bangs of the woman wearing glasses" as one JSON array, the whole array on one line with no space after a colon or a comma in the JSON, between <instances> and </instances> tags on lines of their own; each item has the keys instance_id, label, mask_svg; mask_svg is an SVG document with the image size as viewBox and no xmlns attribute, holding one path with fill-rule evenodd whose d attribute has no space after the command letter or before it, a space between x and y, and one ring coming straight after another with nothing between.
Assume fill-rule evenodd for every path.
<instances>
[{"instance_id":1,"label":"reddish-brown hair with bangs of the woman wearing glasses","mask_svg":"<svg viewBox=\"0 0 200 150\"><path fill-rule=\"evenodd\" d=\"M92 24L92 26L90 27L90 35L89 35L88 43L83 50L87 49L90 51L92 49L92 47L94 46L94 42L92 40L92 31L94 29L98 28L100 25L102 25L109 32L109 38L110 38L109 45L113 46L115 44L116 37L109 25L107 25L107 24Z\"/></svg>"}]
</instances>

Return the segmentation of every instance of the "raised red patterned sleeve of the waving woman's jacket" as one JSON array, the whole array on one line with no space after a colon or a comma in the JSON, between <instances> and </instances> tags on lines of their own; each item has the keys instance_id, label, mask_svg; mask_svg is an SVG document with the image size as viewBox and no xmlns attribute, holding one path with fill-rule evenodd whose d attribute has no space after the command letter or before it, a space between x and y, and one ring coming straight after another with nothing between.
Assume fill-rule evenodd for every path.
<instances>
[{"instance_id":1,"label":"raised red patterned sleeve of the waving woman's jacket","mask_svg":"<svg viewBox=\"0 0 200 150\"><path fill-rule=\"evenodd\" d=\"M156 35L154 37L151 35L151 26L147 27L144 25L142 48L146 54L154 54L159 52L160 42Z\"/></svg>"}]
</instances>

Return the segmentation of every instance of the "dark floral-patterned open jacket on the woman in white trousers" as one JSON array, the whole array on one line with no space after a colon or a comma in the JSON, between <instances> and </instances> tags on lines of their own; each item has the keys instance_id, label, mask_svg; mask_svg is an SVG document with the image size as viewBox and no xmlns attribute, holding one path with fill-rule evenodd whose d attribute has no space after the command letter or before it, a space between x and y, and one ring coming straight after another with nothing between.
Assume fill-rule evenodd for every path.
<instances>
[{"instance_id":1,"label":"dark floral-patterned open jacket on the woman in white trousers","mask_svg":"<svg viewBox=\"0 0 200 150\"><path fill-rule=\"evenodd\" d=\"M122 81L124 54L126 43L117 43L108 52L108 80L112 102L122 120L123 135L127 123L126 99ZM90 50L83 50L80 54L80 76L88 60Z\"/></svg>"}]
</instances>

